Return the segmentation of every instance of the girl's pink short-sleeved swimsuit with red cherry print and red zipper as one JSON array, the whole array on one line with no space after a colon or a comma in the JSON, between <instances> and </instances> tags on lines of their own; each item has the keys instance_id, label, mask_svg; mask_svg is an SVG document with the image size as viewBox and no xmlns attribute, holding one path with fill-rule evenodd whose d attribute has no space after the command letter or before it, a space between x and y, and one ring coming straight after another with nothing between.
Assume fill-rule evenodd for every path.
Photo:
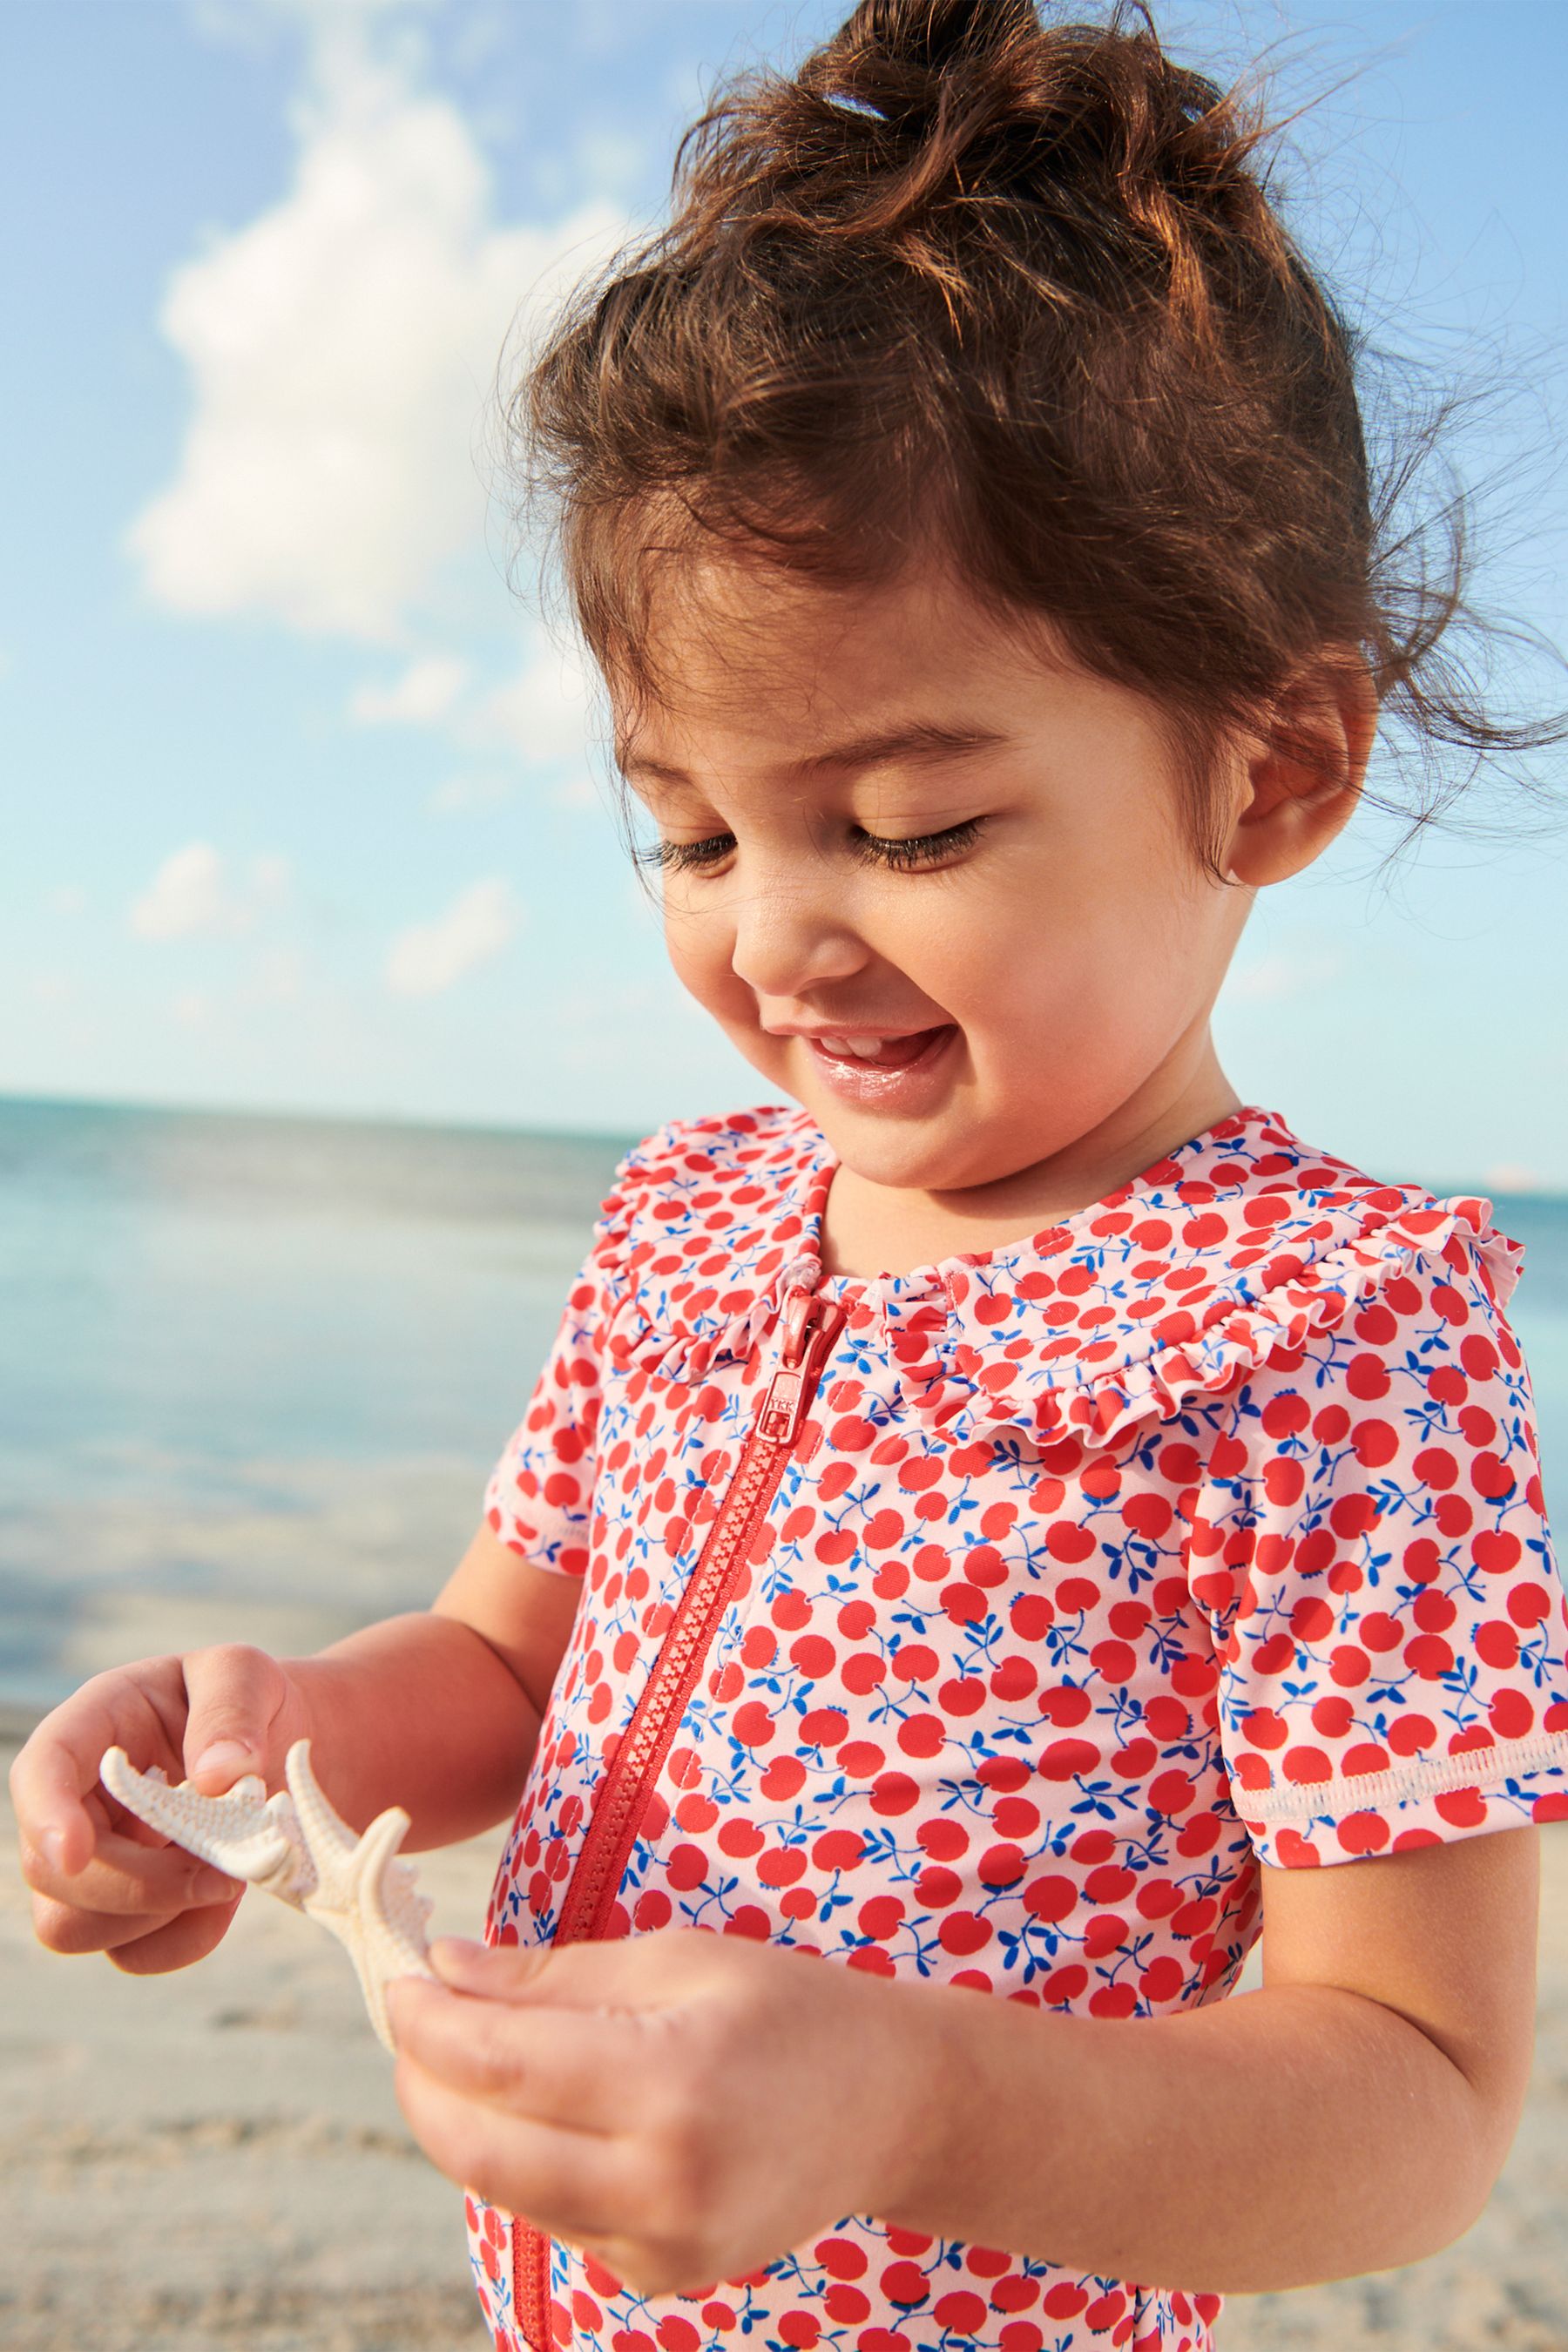
<instances>
[{"instance_id":1,"label":"girl's pink short-sleeved swimsuit with red cherry print and red zipper","mask_svg":"<svg viewBox=\"0 0 1568 2352\"><path fill-rule=\"evenodd\" d=\"M1262 1863L1568 1818L1490 1202L1248 1108L1027 1242L860 1279L820 1270L832 1169L762 1105L616 1171L487 1489L585 1581L491 1943L686 1924L1166 2016L1234 1987ZM1211 2352L1222 2303L865 2213L649 2298L468 2225L498 2352Z\"/></svg>"}]
</instances>

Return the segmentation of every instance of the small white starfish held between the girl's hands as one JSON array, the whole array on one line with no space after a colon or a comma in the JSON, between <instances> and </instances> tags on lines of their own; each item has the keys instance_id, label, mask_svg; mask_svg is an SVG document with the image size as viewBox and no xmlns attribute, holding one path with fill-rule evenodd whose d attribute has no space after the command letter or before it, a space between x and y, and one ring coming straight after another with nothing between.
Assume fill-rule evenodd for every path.
<instances>
[{"instance_id":1,"label":"small white starfish held between the girl's hands","mask_svg":"<svg viewBox=\"0 0 1568 2352\"><path fill-rule=\"evenodd\" d=\"M390 2051L388 1983L435 1978L425 1955L430 1898L416 1893L414 1865L397 1856L409 1816L388 1806L355 1837L317 1788L310 1740L294 1740L284 1776L287 1795L268 1797L266 1780L247 1773L228 1795L202 1797L188 1780L169 1785L158 1764L136 1771L125 1748L108 1748L99 1766L110 1797L148 1828L331 1929L348 1945L369 2020Z\"/></svg>"}]
</instances>

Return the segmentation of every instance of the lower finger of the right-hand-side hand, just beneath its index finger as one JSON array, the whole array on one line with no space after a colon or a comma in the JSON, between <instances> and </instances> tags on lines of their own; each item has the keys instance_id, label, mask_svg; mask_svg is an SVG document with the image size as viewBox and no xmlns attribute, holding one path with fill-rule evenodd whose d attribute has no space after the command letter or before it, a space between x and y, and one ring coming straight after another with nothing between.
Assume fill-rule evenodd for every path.
<instances>
[{"instance_id":1,"label":"lower finger of the right-hand-side hand, just beneath its index finger","mask_svg":"<svg viewBox=\"0 0 1568 2352\"><path fill-rule=\"evenodd\" d=\"M635 2234L642 2190L632 2140L475 2105L407 2051L397 2053L393 2089L414 2138L458 2187L578 2244Z\"/></svg>"}]
</instances>

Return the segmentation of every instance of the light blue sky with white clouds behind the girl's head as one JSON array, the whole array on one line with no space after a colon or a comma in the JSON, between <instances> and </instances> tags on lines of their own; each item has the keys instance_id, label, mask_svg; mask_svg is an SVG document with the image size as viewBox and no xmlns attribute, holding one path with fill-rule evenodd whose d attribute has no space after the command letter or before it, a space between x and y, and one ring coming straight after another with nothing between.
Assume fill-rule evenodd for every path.
<instances>
[{"instance_id":1,"label":"light blue sky with white clouds behind the girl's head","mask_svg":"<svg viewBox=\"0 0 1568 2352\"><path fill-rule=\"evenodd\" d=\"M520 306L656 214L705 82L837 16L0 0L0 1091L597 1131L766 1094L508 593L487 393ZM1502 388L1483 588L1568 637L1568 16L1161 21L1328 89L1293 219L1387 339ZM1385 1174L1568 1188L1568 821L1493 807L1265 894L1218 1035Z\"/></svg>"}]
</instances>

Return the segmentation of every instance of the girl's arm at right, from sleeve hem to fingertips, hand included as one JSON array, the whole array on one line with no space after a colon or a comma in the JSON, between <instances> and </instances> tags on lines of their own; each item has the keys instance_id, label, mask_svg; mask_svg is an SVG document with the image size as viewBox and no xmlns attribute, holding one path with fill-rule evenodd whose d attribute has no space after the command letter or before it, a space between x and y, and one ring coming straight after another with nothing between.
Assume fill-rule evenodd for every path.
<instances>
[{"instance_id":1,"label":"girl's arm at right, from sleeve hem to fingertips, hand included","mask_svg":"<svg viewBox=\"0 0 1568 2352\"><path fill-rule=\"evenodd\" d=\"M712 2293L839 2213L1070 2272L1262 2293L1481 2213L1535 2016L1537 1832L1265 1870L1262 1992L1084 2018L656 1929L435 1945L388 1992L451 2180L637 2293ZM778 2129L778 2117L790 2129Z\"/></svg>"}]
</instances>

